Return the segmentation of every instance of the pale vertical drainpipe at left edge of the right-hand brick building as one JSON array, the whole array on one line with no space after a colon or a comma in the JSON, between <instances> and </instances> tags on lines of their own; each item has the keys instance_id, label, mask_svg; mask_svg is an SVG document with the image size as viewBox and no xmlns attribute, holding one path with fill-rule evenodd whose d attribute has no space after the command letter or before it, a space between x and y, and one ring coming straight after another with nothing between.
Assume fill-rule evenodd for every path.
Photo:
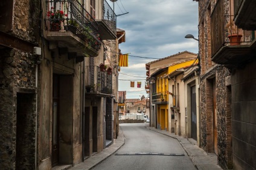
<instances>
[{"instance_id":1,"label":"pale vertical drainpipe at left edge of the right-hand brick building","mask_svg":"<svg viewBox=\"0 0 256 170\"><path fill-rule=\"evenodd\" d=\"M194 71L194 76L196 77L196 138L197 138L197 146L200 147L200 101L199 101L199 91L200 91L200 85L199 85L199 76L196 71Z\"/></svg>"}]
</instances>

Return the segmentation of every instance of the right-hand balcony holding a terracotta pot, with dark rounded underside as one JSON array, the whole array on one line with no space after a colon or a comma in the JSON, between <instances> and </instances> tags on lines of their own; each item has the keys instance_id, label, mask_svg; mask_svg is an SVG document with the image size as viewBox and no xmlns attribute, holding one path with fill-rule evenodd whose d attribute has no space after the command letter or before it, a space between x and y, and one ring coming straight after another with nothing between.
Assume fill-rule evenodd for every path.
<instances>
[{"instance_id":1,"label":"right-hand balcony holding a terracotta pot, with dark rounded underside","mask_svg":"<svg viewBox=\"0 0 256 170\"><path fill-rule=\"evenodd\" d=\"M238 64L248 62L254 55L252 45L254 31L245 31L234 24L234 16L224 16L222 1L217 1L211 15L211 50L212 61L223 64L225 67L234 68ZM240 40L234 40L240 37Z\"/></svg>"}]
</instances>

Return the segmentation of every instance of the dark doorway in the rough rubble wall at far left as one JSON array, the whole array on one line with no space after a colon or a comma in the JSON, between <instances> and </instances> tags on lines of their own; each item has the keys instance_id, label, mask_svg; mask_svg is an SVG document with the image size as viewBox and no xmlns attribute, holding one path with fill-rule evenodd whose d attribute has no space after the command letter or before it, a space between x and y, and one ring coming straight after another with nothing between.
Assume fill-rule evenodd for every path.
<instances>
[{"instance_id":1,"label":"dark doorway in the rough rubble wall at far left","mask_svg":"<svg viewBox=\"0 0 256 170\"><path fill-rule=\"evenodd\" d=\"M34 167L36 152L35 95L17 93L16 122L16 169Z\"/></svg>"}]
</instances>

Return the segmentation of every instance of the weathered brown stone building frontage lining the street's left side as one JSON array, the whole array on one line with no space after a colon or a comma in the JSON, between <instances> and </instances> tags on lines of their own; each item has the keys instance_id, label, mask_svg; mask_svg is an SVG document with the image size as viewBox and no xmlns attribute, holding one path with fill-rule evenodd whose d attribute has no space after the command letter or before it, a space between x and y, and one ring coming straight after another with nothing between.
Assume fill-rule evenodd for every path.
<instances>
[{"instance_id":1,"label":"weathered brown stone building frontage lining the street's left side","mask_svg":"<svg viewBox=\"0 0 256 170\"><path fill-rule=\"evenodd\" d=\"M99 65L116 25L102 26L104 1L92 5L96 13L81 2L0 2L0 169L73 166L102 151L106 136L112 144L112 74ZM56 10L63 18L50 17Z\"/></svg>"}]
</instances>

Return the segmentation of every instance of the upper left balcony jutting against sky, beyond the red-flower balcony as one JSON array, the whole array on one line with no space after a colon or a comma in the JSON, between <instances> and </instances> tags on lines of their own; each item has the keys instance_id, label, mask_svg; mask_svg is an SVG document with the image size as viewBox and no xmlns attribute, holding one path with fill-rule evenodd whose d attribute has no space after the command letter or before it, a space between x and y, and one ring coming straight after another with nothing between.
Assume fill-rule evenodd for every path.
<instances>
[{"instance_id":1,"label":"upper left balcony jutting against sky, beyond the red-flower balcony","mask_svg":"<svg viewBox=\"0 0 256 170\"><path fill-rule=\"evenodd\" d=\"M99 18L95 19L99 25L98 32L103 40L115 40L117 38L117 15L106 0L101 2L103 2L102 12Z\"/></svg>"}]
</instances>

